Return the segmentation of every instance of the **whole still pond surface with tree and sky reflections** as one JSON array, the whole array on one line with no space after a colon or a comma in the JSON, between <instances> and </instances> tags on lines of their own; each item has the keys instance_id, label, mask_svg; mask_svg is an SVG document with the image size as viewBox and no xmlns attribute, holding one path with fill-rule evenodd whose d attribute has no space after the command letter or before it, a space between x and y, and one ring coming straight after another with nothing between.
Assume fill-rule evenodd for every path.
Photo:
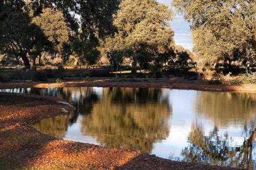
<instances>
[{"instance_id":1,"label":"whole still pond surface with tree and sky reflections","mask_svg":"<svg viewBox=\"0 0 256 170\"><path fill-rule=\"evenodd\" d=\"M177 161L256 168L256 93L98 87L0 91L72 103L76 111L34 125L58 138Z\"/></svg>"}]
</instances>

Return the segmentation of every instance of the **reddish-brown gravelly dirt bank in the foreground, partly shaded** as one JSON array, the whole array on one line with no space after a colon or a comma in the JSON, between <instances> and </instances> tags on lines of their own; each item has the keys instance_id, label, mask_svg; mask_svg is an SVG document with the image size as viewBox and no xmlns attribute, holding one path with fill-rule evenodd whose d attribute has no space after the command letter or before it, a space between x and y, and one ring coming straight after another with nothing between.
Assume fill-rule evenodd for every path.
<instances>
[{"instance_id":1,"label":"reddish-brown gravelly dirt bank in the foreground, partly shaded","mask_svg":"<svg viewBox=\"0 0 256 170\"><path fill-rule=\"evenodd\" d=\"M49 96L0 93L0 169L230 169L174 162L123 149L56 139L32 124L67 105Z\"/></svg>"}]
</instances>

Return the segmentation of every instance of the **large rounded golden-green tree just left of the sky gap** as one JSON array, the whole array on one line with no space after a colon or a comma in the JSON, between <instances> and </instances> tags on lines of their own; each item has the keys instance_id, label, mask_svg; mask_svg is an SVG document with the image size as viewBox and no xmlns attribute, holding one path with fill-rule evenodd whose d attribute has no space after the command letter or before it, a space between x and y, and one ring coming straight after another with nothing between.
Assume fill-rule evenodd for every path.
<instances>
[{"instance_id":1,"label":"large rounded golden-green tree just left of the sky gap","mask_svg":"<svg viewBox=\"0 0 256 170\"><path fill-rule=\"evenodd\" d=\"M137 61L141 67L150 61L160 64L162 54L167 53L174 44L174 32L169 27L172 15L168 6L155 0L121 1L120 9L114 16L117 33L108 39L110 47L106 46L106 51L109 56L115 51L131 51L125 57L131 58L133 72L137 70ZM121 55L110 58L115 58L115 61L123 59Z\"/></svg>"}]
</instances>

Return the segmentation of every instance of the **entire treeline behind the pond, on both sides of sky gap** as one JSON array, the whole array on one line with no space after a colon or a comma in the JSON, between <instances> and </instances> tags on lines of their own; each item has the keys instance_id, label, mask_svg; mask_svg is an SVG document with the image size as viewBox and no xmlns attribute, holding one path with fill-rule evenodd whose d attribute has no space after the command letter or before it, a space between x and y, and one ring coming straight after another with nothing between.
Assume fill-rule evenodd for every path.
<instances>
[{"instance_id":1,"label":"entire treeline behind the pond, on both sides of sky gap","mask_svg":"<svg viewBox=\"0 0 256 170\"><path fill-rule=\"evenodd\" d=\"M194 54L175 45L174 13L156 0L1 0L0 55L6 63L22 60L26 70L48 56L61 66L72 58L79 67L106 58L116 71L130 63L134 73L137 66L159 71L189 62L253 71L255 1L174 0L173 6L190 23Z\"/></svg>"}]
</instances>

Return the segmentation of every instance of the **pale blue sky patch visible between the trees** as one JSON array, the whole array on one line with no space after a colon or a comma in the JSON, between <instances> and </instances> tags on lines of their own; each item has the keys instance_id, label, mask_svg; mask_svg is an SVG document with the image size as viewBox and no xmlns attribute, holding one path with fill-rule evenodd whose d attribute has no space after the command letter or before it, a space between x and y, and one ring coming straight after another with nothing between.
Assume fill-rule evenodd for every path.
<instances>
[{"instance_id":1,"label":"pale blue sky patch visible between the trees","mask_svg":"<svg viewBox=\"0 0 256 170\"><path fill-rule=\"evenodd\" d=\"M160 3L164 3L170 6L172 0L158 0ZM170 26L175 32L175 42L177 45L182 45L184 48L192 51L193 43L191 33L189 31L188 23L183 19L182 16L175 16L175 19L170 23Z\"/></svg>"}]
</instances>

